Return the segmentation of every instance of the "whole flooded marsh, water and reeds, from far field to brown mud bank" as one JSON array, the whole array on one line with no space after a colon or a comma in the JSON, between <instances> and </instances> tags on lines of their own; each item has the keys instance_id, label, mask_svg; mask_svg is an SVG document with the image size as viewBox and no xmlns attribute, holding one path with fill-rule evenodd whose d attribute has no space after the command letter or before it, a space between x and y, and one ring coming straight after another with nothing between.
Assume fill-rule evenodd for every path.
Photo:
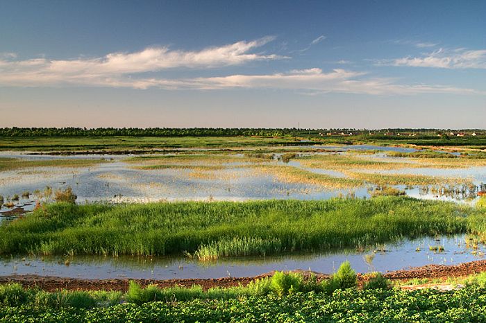
<instances>
[{"instance_id":1,"label":"whole flooded marsh, water and reeds, from far field to brown mud bank","mask_svg":"<svg viewBox=\"0 0 486 323\"><path fill-rule=\"evenodd\" d=\"M378 270L484 255L464 252L464 235L483 230L480 154L307 143L137 155L3 151L0 167L3 274L210 278L326 272L344 259L370 269L364 256L376 250L394 250L376 254ZM68 187L78 206L49 204ZM446 241L446 254L424 246L434 237Z\"/></svg>"}]
</instances>

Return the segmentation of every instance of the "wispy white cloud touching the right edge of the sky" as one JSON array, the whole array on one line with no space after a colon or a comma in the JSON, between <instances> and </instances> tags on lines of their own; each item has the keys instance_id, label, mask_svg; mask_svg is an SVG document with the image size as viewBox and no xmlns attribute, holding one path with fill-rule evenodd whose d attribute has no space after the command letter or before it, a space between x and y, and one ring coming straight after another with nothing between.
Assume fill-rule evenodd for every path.
<instances>
[{"instance_id":1,"label":"wispy white cloud touching the right edge of the sky","mask_svg":"<svg viewBox=\"0 0 486 323\"><path fill-rule=\"evenodd\" d=\"M486 69L486 49L438 49L420 57L407 56L394 60L380 60L377 64L442 69Z\"/></svg>"}]
</instances>

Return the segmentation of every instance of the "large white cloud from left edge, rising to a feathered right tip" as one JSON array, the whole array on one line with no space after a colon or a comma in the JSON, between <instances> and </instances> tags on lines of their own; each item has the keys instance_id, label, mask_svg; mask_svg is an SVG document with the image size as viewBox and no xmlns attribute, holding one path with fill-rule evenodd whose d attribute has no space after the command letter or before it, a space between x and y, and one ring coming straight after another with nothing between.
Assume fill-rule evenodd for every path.
<instances>
[{"instance_id":1,"label":"large white cloud from left edge, rising to a feathered right tip","mask_svg":"<svg viewBox=\"0 0 486 323\"><path fill-rule=\"evenodd\" d=\"M174 68L208 69L239 65L260 60L276 60L278 55L251 53L274 40L264 37L251 42L236 42L209 47L201 51L177 51L168 47L152 47L135 53L110 53L102 58L76 60L0 59L0 84L62 85L62 83L104 82L126 74L162 71ZM10 58L15 56L10 55Z\"/></svg>"}]
</instances>

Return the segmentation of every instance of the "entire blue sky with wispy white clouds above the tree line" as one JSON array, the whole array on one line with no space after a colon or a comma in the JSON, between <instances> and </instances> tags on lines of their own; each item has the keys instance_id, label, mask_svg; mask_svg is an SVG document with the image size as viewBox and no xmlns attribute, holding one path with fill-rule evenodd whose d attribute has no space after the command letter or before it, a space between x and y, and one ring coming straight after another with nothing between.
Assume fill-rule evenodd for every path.
<instances>
[{"instance_id":1,"label":"entire blue sky with wispy white clouds above the tree line","mask_svg":"<svg viewBox=\"0 0 486 323\"><path fill-rule=\"evenodd\" d=\"M1 1L0 127L486 128L486 1Z\"/></svg>"}]
</instances>

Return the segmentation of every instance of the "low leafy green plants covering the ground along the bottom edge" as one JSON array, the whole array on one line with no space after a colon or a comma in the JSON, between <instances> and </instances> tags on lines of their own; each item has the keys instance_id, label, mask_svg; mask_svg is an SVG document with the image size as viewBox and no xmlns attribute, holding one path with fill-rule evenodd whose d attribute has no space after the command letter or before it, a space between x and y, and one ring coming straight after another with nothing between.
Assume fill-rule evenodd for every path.
<instances>
[{"instance_id":1,"label":"low leafy green plants covering the ground along the bottom edge","mask_svg":"<svg viewBox=\"0 0 486 323\"><path fill-rule=\"evenodd\" d=\"M484 322L486 290L337 290L126 303L105 307L1 306L0 322Z\"/></svg>"}]
</instances>

